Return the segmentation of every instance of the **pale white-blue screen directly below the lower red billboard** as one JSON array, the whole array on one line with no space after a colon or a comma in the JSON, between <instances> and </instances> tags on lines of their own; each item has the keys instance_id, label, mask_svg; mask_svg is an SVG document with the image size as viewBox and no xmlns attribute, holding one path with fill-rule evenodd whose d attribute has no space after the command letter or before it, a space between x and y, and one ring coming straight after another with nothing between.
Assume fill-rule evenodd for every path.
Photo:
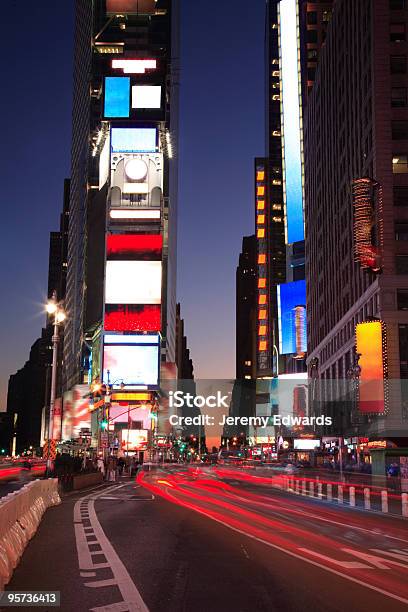
<instances>
[{"instance_id":1,"label":"pale white-blue screen directly below the lower red billboard","mask_svg":"<svg viewBox=\"0 0 408 612\"><path fill-rule=\"evenodd\" d=\"M108 344L103 350L103 380L114 388L157 387L159 382L159 343ZM108 374L109 372L109 374Z\"/></svg>"}]
</instances>

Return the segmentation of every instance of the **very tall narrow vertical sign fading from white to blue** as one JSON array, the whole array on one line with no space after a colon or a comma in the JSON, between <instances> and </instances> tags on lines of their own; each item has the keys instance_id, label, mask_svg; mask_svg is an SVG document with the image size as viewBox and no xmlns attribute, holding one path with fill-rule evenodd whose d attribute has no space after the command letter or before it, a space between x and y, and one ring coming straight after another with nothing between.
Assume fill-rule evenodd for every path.
<instances>
[{"instance_id":1,"label":"very tall narrow vertical sign fading from white to blue","mask_svg":"<svg viewBox=\"0 0 408 612\"><path fill-rule=\"evenodd\" d=\"M286 242L304 240L300 40L297 0L279 3Z\"/></svg>"}]
</instances>

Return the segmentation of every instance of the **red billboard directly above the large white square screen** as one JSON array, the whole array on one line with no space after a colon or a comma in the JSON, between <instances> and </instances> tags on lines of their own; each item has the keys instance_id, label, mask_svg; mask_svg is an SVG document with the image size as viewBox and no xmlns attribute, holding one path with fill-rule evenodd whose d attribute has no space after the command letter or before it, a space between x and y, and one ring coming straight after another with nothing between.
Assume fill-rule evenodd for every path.
<instances>
[{"instance_id":1,"label":"red billboard directly above the large white square screen","mask_svg":"<svg viewBox=\"0 0 408 612\"><path fill-rule=\"evenodd\" d=\"M109 260L150 260L162 258L161 234L109 234L106 255Z\"/></svg>"}]
</instances>

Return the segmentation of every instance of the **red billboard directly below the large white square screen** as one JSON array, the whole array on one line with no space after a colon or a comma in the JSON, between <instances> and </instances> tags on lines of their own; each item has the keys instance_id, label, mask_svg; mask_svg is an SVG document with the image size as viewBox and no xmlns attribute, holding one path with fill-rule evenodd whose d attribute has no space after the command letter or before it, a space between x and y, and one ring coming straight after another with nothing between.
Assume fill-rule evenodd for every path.
<instances>
[{"instance_id":1,"label":"red billboard directly below the large white square screen","mask_svg":"<svg viewBox=\"0 0 408 612\"><path fill-rule=\"evenodd\" d=\"M161 307L152 304L106 304L106 331L160 331Z\"/></svg>"}]
</instances>

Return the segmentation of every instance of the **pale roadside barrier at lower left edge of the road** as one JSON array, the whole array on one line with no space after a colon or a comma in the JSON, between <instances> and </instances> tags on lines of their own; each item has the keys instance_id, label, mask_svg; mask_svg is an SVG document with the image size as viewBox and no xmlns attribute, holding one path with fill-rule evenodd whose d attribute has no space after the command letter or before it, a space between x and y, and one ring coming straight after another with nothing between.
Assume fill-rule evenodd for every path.
<instances>
[{"instance_id":1,"label":"pale roadside barrier at lower left edge of the road","mask_svg":"<svg viewBox=\"0 0 408 612\"><path fill-rule=\"evenodd\" d=\"M58 480L34 480L0 498L0 591L10 581L47 508L61 503Z\"/></svg>"}]
</instances>

